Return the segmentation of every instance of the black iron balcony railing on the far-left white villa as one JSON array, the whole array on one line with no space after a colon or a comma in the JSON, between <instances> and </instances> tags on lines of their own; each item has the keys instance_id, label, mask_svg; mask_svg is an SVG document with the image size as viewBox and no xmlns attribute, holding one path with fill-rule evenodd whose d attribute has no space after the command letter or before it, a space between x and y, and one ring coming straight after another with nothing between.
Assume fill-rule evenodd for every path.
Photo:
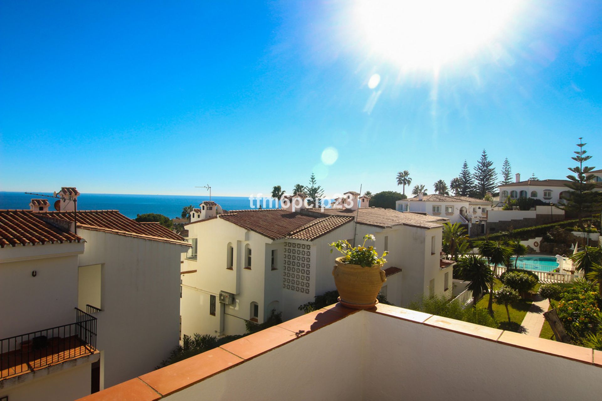
<instances>
[{"instance_id":1,"label":"black iron balcony railing on the far-left white villa","mask_svg":"<svg viewBox=\"0 0 602 401\"><path fill-rule=\"evenodd\" d=\"M75 323L0 340L0 381L94 354L96 317L75 313Z\"/></svg>"}]
</instances>

